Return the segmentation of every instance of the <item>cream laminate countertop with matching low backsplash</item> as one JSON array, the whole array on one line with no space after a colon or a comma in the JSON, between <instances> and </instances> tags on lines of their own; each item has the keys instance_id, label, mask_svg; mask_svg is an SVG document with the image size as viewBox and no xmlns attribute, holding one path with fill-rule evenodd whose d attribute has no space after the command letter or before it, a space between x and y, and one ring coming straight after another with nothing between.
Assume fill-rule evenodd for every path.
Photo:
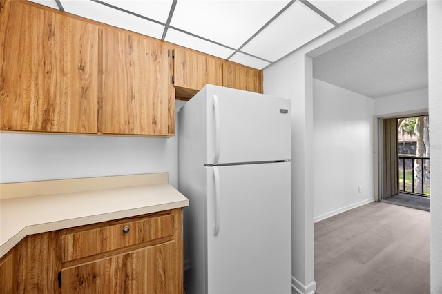
<instances>
[{"instance_id":1,"label":"cream laminate countertop with matching low backsplash","mask_svg":"<svg viewBox=\"0 0 442 294\"><path fill-rule=\"evenodd\" d=\"M155 178L146 180L151 175ZM134 177L14 183L12 189L11 184L0 184L0 257L26 235L189 206L189 199L167 182L166 173ZM97 190L90 190L94 182Z\"/></svg>"}]
</instances>

